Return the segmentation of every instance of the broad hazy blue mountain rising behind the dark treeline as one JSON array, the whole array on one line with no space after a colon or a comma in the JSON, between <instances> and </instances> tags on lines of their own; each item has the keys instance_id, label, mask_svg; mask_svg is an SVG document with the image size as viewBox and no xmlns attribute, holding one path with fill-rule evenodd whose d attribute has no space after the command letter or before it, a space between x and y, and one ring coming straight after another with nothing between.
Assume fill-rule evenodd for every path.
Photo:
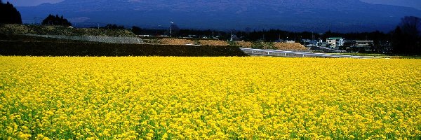
<instances>
[{"instance_id":1,"label":"broad hazy blue mountain rising behind the dark treeline","mask_svg":"<svg viewBox=\"0 0 421 140\"><path fill-rule=\"evenodd\" d=\"M359 0L65 0L18 7L23 22L64 15L76 27L131 27L288 31L391 31L404 16L421 10Z\"/></svg>"}]
</instances>

